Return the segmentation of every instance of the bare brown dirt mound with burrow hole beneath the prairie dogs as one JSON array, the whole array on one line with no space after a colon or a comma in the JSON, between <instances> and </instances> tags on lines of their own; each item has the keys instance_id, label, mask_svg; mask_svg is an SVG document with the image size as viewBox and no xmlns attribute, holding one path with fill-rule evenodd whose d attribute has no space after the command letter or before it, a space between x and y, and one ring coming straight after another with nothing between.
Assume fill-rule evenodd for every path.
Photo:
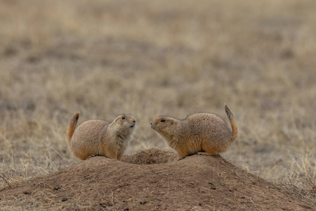
<instances>
[{"instance_id":1,"label":"bare brown dirt mound with burrow hole beneath the prairie dogs","mask_svg":"<svg viewBox=\"0 0 316 211\"><path fill-rule=\"evenodd\" d=\"M311 210L220 155L150 149L93 157L0 191L2 205L45 210Z\"/></svg>"}]
</instances>

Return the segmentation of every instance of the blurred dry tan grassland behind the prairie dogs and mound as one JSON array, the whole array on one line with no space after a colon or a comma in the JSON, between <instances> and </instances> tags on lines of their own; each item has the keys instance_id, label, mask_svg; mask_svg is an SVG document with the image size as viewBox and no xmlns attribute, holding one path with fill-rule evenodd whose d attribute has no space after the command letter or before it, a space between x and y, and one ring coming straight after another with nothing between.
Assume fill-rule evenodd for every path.
<instances>
[{"instance_id":1,"label":"blurred dry tan grassland behind the prairie dogs and mound","mask_svg":"<svg viewBox=\"0 0 316 211\"><path fill-rule=\"evenodd\" d=\"M66 143L77 111L79 124L133 114L131 154L171 150L154 117L228 122L227 103L239 138L223 158L315 188L315 11L314 0L1 0L1 177L12 185L79 162Z\"/></svg>"}]
</instances>

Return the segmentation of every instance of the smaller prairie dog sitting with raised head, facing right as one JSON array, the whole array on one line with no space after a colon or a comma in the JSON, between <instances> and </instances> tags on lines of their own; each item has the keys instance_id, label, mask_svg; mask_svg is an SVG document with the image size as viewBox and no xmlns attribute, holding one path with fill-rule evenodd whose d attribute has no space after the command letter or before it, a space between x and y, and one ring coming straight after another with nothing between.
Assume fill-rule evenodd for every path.
<instances>
[{"instance_id":1,"label":"smaller prairie dog sitting with raised head, facing right","mask_svg":"<svg viewBox=\"0 0 316 211\"><path fill-rule=\"evenodd\" d=\"M93 155L120 160L135 131L135 117L122 114L111 123L88 120L76 129L79 115L76 113L72 117L67 129L67 142L72 155L81 160Z\"/></svg>"}]
</instances>

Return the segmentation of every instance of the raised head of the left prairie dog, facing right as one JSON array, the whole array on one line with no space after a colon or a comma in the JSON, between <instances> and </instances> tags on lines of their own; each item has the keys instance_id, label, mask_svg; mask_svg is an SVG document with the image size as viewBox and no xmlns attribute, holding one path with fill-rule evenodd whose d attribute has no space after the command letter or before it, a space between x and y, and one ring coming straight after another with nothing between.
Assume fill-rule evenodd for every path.
<instances>
[{"instance_id":1,"label":"raised head of the left prairie dog, facing right","mask_svg":"<svg viewBox=\"0 0 316 211\"><path fill-rule=\"evenodd\" d=\"M111 123L114 131L130 136L136 129L136 119L130 114L121 114Z\"/></svg>"}]
</instances>

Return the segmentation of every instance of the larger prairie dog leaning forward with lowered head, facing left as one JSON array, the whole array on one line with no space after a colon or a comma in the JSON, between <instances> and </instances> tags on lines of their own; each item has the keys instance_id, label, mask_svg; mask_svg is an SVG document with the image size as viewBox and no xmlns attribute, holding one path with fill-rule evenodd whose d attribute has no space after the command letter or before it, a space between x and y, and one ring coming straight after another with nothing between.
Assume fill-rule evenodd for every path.
<instances>
[{"instance_id":1,"label":"larger prairie dog leaning forward with lowered head, facing left","mask_svg":"<svg viewBox=\"0 0 316 211\"><path fill-rule=\"evenodd\" d=\"M226 105L225 111L232 131L224 120L211 113L196 113L184 120L160 116L150 124L178 152L178 160L196 153L217 155L226 151L237 139L238 128L234 114Z\"/></svg>"}]
</instances>

